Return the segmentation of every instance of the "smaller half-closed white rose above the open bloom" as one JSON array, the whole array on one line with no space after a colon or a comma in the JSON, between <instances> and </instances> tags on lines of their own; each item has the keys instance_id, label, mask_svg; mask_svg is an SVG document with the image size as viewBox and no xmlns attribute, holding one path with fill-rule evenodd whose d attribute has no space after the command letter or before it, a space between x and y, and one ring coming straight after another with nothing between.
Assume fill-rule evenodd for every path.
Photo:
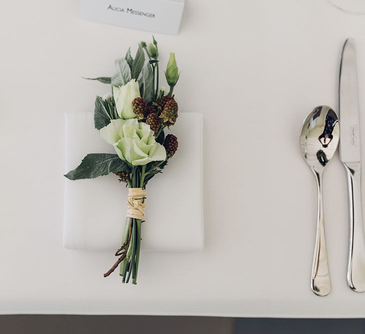
<instances>
[{"instance_id":1,"label":"smaller half-closed white rose above the open bloom","mask_svg":"<svg viewBox=\"0 0 365 334\"><path fill-rule=\"evenodd\" d=\"M133 112L132 101L135 98L141 97L141 94L138 82L135 79L132 79L124 86L113 87L113 96L120 118L127 120L136 117L136 114Z\"/></svg>"}]
</instances>

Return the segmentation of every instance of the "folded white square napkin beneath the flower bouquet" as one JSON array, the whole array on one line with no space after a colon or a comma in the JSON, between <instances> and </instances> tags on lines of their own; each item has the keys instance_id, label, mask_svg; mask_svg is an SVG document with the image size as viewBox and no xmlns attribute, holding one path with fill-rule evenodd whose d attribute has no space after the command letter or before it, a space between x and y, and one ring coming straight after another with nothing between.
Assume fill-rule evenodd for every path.
<instances>
[{"instance_id":1,"label":"folded white square napkin beneath the flower bouquet","mask_svg":"<svg viewBox=\"0 0 365 334\"><path fill-rule=\"evenodd\" d=\"M93 112L66 113L65 131L65 172L88 153L115 153L95 130ZM179 149L146 187L142 250L203 248L201 114L180 113L172 133ZM121 242L127 195L125 183L114 174L93 180L65 179L64 246L115 251Z\"/></svg>"}]
</instances>

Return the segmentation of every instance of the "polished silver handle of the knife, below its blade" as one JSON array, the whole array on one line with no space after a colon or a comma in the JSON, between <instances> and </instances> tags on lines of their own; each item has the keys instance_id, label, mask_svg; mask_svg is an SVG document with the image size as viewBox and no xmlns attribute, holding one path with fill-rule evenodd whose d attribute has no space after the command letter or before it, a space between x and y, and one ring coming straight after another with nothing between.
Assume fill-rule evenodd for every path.
<instances>
[{"instance_id":1,"label":"polished silver handle of the knife, below its blade","mask_svg":"<svg viewBox=\"0 0 365 334\"><path fill-rule=\"evenodd\" d=\"M365 291L365 234L362 223L361 164L344 164L347 171L350 212L350 240L347 282L356 292Z\"/></svg>"}]
</instances>

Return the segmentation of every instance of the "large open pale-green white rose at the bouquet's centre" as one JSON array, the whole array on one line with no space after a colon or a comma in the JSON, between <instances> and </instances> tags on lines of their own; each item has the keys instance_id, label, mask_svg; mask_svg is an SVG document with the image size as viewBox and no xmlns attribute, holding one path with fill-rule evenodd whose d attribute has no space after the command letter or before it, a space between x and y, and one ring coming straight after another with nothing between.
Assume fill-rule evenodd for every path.
<instances>
[{"instance_id":1,"label":"large open pale-green white rose at the bouquet's centre","mask_svg":"<svg viewBox=\"0 0 365 334\"><path fill-rule=\"evenodd\" d=\"M137 119L111 120L100 130L101 137L114 146L118 156L133 166L166 160L165 148L156 142L150 126Z\"/></svg>"}]
</instances>

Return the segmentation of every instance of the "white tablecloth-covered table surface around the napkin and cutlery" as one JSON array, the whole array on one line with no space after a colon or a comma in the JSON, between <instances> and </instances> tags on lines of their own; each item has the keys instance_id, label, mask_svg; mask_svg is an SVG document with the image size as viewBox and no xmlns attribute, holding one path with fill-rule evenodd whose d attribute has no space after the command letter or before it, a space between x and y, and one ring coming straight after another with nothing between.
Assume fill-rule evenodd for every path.
<instances>
[{"instance_id":1,"label":"white tablecloth-covered table surface around the napkin and cutlery","mask_svg":"<svg viewBox=\"0 0 365 334\"><path fill-rule=\"evenodd\" d=\"M203 114L205 242L201 252L144 253L133 286L103 278L108 252L62 246L64 112L92 110L105 87L81 76L110 75L150 34L82 21L78 6L2 4L0 313L365 316L365 294L346 285L337 154L324 174L332 292L309 288L315 181L298 145L311 108L337 107L349 36L365 89L365 17L325 0L190 0L180 34L156 34L162 64L176 52L180 110Z\"/></svg>"}]
</instances>

